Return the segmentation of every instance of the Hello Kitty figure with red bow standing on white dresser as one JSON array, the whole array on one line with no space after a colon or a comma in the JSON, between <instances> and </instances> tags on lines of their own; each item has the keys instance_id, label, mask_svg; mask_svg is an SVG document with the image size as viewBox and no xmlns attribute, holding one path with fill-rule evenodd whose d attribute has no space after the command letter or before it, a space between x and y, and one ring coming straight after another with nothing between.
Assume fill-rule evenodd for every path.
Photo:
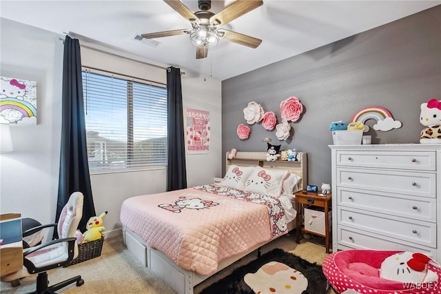
<instances>
[{"instance_id":1,"label":"Hello Kitty figure with red bow standing on white dresser","mask_svg":"<svg viewBox=\"0 0 441 294\"><path fill-rule=\"evenodd\" d=\"M420 143L441 143L441 100L431 99L420 108L420 123L427 127L421 131Z\"/></svg>"}]
</instances>

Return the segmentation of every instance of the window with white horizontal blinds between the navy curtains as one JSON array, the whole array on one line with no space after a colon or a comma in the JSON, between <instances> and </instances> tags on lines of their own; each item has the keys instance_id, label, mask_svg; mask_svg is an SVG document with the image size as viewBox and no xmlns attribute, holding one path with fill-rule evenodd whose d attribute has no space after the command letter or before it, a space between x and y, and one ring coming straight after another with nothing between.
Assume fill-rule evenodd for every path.
<instances>
[{"instance_id":1,"label":"window with white horizontal blinds between the navy curtains","mask_svg":"<svg viewBox=\"0 0 441 294\"><path fill-rule=\"evenodd\" d=\"M91 171L167 165L167 90L83 70Z\"/></svg>"}]
</instances>

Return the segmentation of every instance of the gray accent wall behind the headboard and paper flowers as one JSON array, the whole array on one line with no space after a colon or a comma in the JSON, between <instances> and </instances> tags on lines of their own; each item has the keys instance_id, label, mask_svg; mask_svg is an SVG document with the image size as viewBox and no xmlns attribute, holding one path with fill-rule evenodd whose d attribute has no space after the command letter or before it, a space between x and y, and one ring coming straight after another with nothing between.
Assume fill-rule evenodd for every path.
<instances>
[{"instance_id":1,"label":"gray accent wall behind the headboard and paper flowers","mask_svg":"<svg viewBox=\"0 0 441 294\"><path fill-rule=\"evenodd\" d=\"M249 139L238 138L236 128L247 124L243 108L249 101L281 121L280 102L291 96L300 99L304 112L291 123L288 140L278 140L275 130L260 123L249 126ZM269 137L281 150L307 152L307 182L320 186L331 182L332 121L350 122L362 108L380 106L402 127L376 131L376 121L367 120L371 128L365 135L373 144L418 143L424 128L420 104L431 98L441 100L441 6L223 81L223 154L232 148L266 151L262 139Z\"/></svg>"}]
</instances>

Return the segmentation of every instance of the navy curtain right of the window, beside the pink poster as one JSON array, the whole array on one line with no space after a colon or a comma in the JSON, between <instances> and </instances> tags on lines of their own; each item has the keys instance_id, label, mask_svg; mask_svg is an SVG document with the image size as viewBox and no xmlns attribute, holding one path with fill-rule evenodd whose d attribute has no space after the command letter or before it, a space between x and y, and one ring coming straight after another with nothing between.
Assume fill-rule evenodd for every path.
<instances>
[{"instance_id":1,"label":"navy curtain right of the window, beside the pink poster","mask_svg":"<svg viewBox=\"0 0 441 294\"><path fill-rule=\"evenodd\" d=\"M167 68L167 191L187 188L181 69Z\"/></svg>"}]
</instances>

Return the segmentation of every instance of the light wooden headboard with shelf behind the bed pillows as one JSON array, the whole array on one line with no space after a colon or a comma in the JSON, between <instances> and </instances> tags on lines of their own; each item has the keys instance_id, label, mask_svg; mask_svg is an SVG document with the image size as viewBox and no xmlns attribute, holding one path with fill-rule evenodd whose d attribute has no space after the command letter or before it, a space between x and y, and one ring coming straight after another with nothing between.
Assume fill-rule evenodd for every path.
<instances>
[{"instance_id":1,"label":"light wooden headboard with shelf behind the bed pillows","mask_svg":"<svg viewBox=\"0 0 441 294\"><path fill-rule=\"evenodd\" d=\"M307 153L302 153L300 161L267 161L266 152L241 152L236 153L234 159L229 159L227 152L225 155L225 170L228 170L229 166L236 164L236 166L262 166L263 168L274 168L277 170L289 170L289 173L294 173L300 176L301 187L305 189L308 183L308 170L307 170Z\"/></svg>"}]
</instances>

